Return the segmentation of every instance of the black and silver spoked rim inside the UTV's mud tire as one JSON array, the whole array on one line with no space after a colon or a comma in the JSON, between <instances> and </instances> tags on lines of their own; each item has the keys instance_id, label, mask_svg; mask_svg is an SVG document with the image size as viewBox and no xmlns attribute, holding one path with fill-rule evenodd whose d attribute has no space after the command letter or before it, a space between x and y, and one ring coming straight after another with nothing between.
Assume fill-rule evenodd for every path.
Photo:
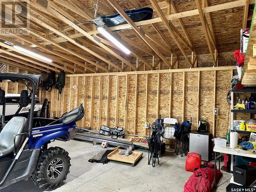
<instances>
[{"instance_id":1,"label":"black and silver spoked rim inside the UTV's mud tire","mask_svg":"<svg viewBox=\"0 0 256 192\"><path fill-rule=\"evenodd\" d=\"M47 167L47 175L50 179L58 178L64 168L64 162L60 158L52 160Z\"/></svg>"}]
</instances>

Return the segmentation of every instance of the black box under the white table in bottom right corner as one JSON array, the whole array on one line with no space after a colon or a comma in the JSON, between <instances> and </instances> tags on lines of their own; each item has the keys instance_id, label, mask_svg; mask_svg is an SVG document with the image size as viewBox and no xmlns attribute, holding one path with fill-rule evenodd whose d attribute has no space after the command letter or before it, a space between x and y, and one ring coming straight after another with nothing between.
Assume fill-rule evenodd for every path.
<instances>
[{"instance_id":1,"label":"black box under the white table in bottom right corner","mask_svg":"<svg viewBox=\"0 0 256 192\"><path fill-rule=\"evenodd\" d=\"M233 166L234 182L242 185L250 186L256 179L256 167L250 165L236 165Z\"/></svg>"}]
</instances>

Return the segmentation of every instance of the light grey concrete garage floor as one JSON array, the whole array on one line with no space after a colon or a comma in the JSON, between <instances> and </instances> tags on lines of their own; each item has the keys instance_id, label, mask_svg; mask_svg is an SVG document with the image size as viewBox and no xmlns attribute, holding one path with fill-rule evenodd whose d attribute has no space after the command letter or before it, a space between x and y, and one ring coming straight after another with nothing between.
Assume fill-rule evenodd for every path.
<instances>
[{"instance_id":1,"label":"light grey concrete garage floor","mask_svg":"<svg viewBox=\"0 0 256 192\"><path fill-rule=\"evenodd\" d=\"M147 165L147 152L135 166L109 162L90 163L88 159L102 150L100 145L71 140L55 141L53 146L61 146L70 154L70 174L63 185L54 192L80 191L183 191L183 186L191 173L185 170L185 157L166 154L160 158L160 165ZM224 173L216 191L225 191L230 174ZM31 179L20 181L1 192L42 192Z\"/></svg>"}]
</instances>

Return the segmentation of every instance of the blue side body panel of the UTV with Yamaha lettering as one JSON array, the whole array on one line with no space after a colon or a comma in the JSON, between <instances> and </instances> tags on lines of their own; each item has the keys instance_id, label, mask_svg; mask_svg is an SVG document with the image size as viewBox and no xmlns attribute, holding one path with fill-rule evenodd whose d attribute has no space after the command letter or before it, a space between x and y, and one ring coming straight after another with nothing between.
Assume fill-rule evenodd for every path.
<instances>
[{"instance_id":1,"label":"blue side body panel of the UTV with Yamaha lettering","mask_svg":"<svg viewBox=\"0 0 256 192\"><path fill-rule=\"evenodd\" d=\"M41 148L46 142L57 138L69 140L70 134L75 131L75 127L76 123L71 122L33 128L29 138L29 148Z\"/></svg>"}]
</instances>

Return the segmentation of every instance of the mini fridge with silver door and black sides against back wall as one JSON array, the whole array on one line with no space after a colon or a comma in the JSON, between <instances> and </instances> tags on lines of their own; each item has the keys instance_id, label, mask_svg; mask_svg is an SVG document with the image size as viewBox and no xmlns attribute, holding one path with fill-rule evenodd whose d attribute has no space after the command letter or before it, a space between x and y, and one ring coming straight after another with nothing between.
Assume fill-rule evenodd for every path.
<instances>
[{"instance_id":1,"label":"mini fridge with silver door and black sides against back wall","mask_svg":"<svg viewBox=\"0 0 256 192\"><path fill-rule=\"evenodd\" d=\"M209 132L191 131L189 133L189 152L201 155L202 161L212 160L212 134Z\"/></svg>"}]
</instances>

